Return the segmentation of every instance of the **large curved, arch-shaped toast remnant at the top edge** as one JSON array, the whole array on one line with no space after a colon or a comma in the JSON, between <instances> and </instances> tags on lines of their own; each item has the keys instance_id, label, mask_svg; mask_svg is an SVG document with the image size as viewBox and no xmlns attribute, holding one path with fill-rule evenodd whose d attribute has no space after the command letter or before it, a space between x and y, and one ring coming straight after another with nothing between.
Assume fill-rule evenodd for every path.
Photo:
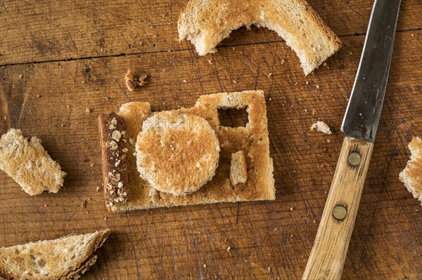
<instances>
[{"instance_id":1,"label":"large curved, arch-shaped toast remnant at the top edge","mask_svg":"<svg viewBox=\"0 0 422 280\"><path fill-rule=\"evenodd\" d=\"M300 59L305 75L341 46L340 39L304 0L191 0L179 15L179 40L188 39L199 55L215 53L215 46L232 30L251 25L267 27L286 40Z\"/></svg>"}]
</instances>

